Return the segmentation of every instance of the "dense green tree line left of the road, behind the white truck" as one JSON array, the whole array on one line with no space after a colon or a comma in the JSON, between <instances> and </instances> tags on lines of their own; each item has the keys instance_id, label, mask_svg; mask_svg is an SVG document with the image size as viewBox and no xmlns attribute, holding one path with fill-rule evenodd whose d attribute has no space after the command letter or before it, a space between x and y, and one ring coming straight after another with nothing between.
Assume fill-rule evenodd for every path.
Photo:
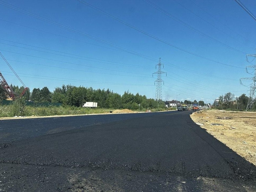
<instances>
[{"instance_id":1,"label":"dense green tree line left of the road, behind the white truck","mask_svg":"<svg viewBox=\"0 0 256 192\"><path fill-rule=\"evenodd\" d=\"M13 90L17 94L21 94L24 87L13 86ZM1 91L1 90L0 90ZM0 92L3 93L4 90ZM4 95L4 94L3 94ZM51 92L47 87L34 88L30 95L28 89L23 96L26 100L33 102L59 102L63 106L76 106L81 107L85 102L97 102L98 107L111 108L111 109L153 109L163 108L165 103L163 101L155 101L155 99L149 99L145 95L139 93L133 94L129 90L125 91L123 95L113 92L113 90L105 89L93 89L92 87L62 85L56 87ZM1 98L3 99L3 98Z\"/></svg>"}]
</instances>

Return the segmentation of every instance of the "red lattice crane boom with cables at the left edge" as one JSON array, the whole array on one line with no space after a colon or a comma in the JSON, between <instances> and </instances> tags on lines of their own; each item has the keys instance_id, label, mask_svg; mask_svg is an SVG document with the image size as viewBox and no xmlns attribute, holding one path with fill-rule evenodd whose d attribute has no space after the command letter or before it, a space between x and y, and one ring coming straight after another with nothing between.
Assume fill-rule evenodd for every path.
<instances>
[{"instance_id":1,"label":"red lattice crane boom with cables at the left edge","mask_svg":"<svg viewBox=\"0 0 256 192\"><path fill-rule=\"evenodd\" d=\"M1 57L3 58L3 60L6 62L6 64L10 67L10 69L13 71L13 73L15 74L15 76L19 79L19 81L22 83L22 85L25 87L25 89L22 91L20 97L22 97L26 90L28 89L25 84L22 82L21 78L19 78L19 76L17 75L17 73L13 70L13 68L11 67L11 65L8 63L8 61L5 59L5 57L2 55L2 53L0 52ZM6 91L6 94L12 99L15 100L17 98L17 96L14 94L14 91L11 90L10 86L8 85L7 81L5 80L5 78L3 77L3 74L0 71L0 84L3 87L3 89Z\"/></svg>"}]
</instances>

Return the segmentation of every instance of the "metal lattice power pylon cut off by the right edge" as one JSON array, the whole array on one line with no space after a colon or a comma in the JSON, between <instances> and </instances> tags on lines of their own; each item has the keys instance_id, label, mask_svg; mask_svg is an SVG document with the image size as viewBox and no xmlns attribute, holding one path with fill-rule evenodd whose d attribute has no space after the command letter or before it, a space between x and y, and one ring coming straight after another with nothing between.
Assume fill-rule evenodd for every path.
<instances>
[{"instance_id":1,"label":"metal lattice power pylon cut off by the right edge","mask_svg":"<svg viewBox=\"0 0 256 192\"><path fill-rule=\"evenodd\" d=\"M246 56L251 56L251 57L255 57L256 58L256 54L247 54ZM246 57L246 61L248 61L247 57ZM247 103L247 107L246 107L246 111L248 109L251 109L251 107L253 106L254 102L256 101L256 65L252 65L252 66L246 66L246 72L248 72L247 68L253 68L253 73L254 76L253 77L248 77L248 78L240 78L240 83L242 84L241 80L252 80L253 82L250 84L250 95L249 95L249 100ZM253 74L253 73L249 73L249 74Z\"/></svg>"}]
</instances>

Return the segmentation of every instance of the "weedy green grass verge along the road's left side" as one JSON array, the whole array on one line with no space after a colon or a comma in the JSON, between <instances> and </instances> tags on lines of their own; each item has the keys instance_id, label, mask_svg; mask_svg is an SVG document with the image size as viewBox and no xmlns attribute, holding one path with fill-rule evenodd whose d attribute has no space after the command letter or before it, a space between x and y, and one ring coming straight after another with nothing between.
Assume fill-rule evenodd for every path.
<instances>
[{"instance_id":1,"label":"weedy green grass verge along the road's left side","mask_svg":"<svg viewBox=\"0 0 256 192\"><path fill-rule=\"evenodd\" d=\"M103 109L103 108L86 108L86 107L33 107L25 106L22 110L17 109L14 105L2 105L0 106L0 117L14 117L17 116L50 116L50 115L82 115L82 114L94 114L94 113L107 113L114 111L115 109ZM152 112L164 111L166 109L150 109ZM168 108L171 110L171 108ZM140 111L145 111L141 109Z\"/></svg>"}]
</instances>

